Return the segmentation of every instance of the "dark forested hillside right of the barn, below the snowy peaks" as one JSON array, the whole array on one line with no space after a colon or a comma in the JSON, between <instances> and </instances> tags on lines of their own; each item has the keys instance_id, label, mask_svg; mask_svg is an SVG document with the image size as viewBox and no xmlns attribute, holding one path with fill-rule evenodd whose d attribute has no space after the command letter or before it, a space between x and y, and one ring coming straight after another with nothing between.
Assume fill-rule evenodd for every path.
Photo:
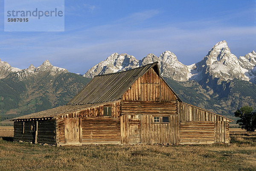
<instances>
[{"instance_id":1,"label":"dark forested hillside right of the barn, below the snowy peaks","mask_svg":"<svg viewBox=\"0 0 256 171\"><path fill-rule=\"evenodd\" d=\"M179 82L164 77L166 82L186 103L235 119L233 113L244 105L256 109L256 84L239 79L222 81L220 85L204 88L197 81Z\"/></svg>"}]
</instances>

